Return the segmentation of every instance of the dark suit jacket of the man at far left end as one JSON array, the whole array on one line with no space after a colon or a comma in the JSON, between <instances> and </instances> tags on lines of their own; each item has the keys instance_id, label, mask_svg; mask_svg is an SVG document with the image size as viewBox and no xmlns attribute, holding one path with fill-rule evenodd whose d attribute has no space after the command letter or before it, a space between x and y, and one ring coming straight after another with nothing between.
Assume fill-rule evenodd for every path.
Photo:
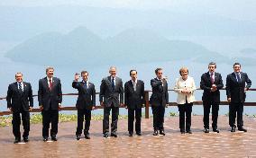
<instances>
[{"instance_id":1,"label":"dark suit jacket of the man at far left end","mask_svg":"<svg viewBox=\"0 0 256 158\"><path fill-rule=\"evenodd\" d=\"M31 83L23 82L23 92L18 90L17 82L9 84L6 101L7 108L12 108L14 112L29 111L29 107L33 107Z\"/></svg>"}]
</instances>

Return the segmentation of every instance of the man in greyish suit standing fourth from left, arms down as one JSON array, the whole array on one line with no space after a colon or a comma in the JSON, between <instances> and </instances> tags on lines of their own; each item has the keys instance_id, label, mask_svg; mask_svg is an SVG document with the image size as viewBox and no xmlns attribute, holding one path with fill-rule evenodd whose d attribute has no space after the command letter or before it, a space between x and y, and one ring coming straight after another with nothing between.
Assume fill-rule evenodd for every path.
<instances>
[{"instance_id":1,"label":"man in greyish suit standing fourth from left, arms down","mask_svg":"<svg viewBox=\"0 0 256 158\"><path fill-rule=\"evenodd\" d=\"M103 134L108 137L109 133L109 115L112 110L111 136L117 137L117 121L119 115L119 106L123 106L123 82L122 79L115 76L116 68L111 66L110 76L105 77L100 85L99 101L104 106Z\"/></svg>"}]
</instances>

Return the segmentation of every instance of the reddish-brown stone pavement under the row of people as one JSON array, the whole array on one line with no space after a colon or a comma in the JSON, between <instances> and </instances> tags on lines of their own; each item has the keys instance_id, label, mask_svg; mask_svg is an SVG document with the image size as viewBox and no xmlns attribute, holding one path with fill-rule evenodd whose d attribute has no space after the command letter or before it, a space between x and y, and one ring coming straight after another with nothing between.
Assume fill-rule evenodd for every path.
<instances>
[{"instance_id":1,"label":"reddish-brown stone pavement under the row of people","mask_svg":"<svg viewBox=\"0 0 256 158\"><path fill-rule=\"evenodd\" d=\"M45 143L41 124L32 125L30 142L13 144L12 127L0 127L0 157L256 157L256 119L244 117L247 133L231 133L228 117L219 117L220 133L203 132L202 116L192 116L193 134L182 135L178 117L165 118L166 136L152 136L152 118L142 119L142 136L129 137L127 120L118 137L103 138L102 121L92 121L91 139L76 140L76 122L59 123L58 141Z\"/></svg>"}]
</instances>

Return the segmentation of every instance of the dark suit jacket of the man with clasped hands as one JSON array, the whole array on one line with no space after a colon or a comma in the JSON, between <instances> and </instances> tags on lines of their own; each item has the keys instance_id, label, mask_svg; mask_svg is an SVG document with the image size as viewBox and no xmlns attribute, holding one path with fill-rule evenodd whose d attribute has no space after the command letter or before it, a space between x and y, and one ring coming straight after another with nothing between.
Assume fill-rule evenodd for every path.
<instances>
[{"instance_id":1,"label":"dark suit jacket of the man with clasped hands","mask_svg":"<svg viewBox=\"0 0 256 158\"><path fill-rule=\"evenodd\" d=\"M213 83L211 82L211 76L209 72L201 76L200 88L204 90L202 100L206 102L220 103L220 89L224 87L222 75L215 72L215 85L217 90L211 92Z\"/></svg>"}]
</instances>

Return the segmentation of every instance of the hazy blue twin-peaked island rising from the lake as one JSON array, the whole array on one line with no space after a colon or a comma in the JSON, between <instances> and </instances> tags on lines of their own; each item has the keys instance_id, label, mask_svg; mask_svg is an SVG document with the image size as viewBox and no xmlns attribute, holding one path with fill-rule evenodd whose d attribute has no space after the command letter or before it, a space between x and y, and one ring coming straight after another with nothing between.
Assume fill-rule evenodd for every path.
<instances>
[{"instance_id":1,"label":"hazy blue twin-peaked island rising from the lake","mask_svg":"<svg viewBox=\"0 0 256 158\"><path fill-rule=\"evenodd\" d=\"M102 40L85 27L68 34L37 35L6 52L17 62L43 66L94 66L191 59L230 63L230 59L185 40L167 40L148 30L129 29Z\"/></svg>"}]
</instances>

